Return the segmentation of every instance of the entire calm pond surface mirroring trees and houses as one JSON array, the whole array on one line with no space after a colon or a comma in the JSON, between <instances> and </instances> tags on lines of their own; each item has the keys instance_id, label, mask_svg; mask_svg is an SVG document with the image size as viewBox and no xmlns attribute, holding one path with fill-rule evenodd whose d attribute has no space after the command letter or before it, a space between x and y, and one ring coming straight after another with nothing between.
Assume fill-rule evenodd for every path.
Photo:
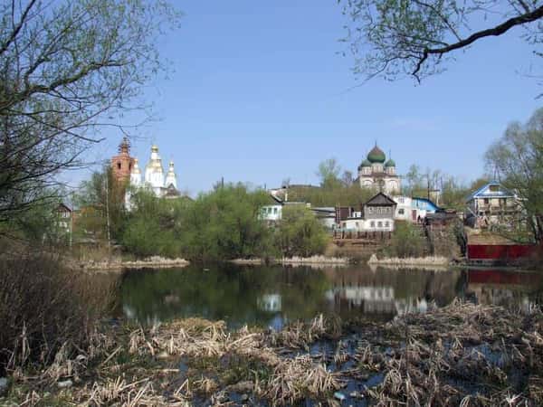
<instances>
[{"instance_id":1,"label":"entire calm pond surface mirroring trees and houses","mask_svg":"<svg viewBox=\"0 0 543 407\"><path fill-rule=\"evenodd\" d=\"M505 274L503 274L505 273ZM533 307L538 274L498 270L371 270L243 267L132 270L123 279L119 313L142 324L175 317L224 319L281 328L296 319L334 313L386 321L424 312L429 303L468 298L483 304Z\"/></svg>"}]
</instances>

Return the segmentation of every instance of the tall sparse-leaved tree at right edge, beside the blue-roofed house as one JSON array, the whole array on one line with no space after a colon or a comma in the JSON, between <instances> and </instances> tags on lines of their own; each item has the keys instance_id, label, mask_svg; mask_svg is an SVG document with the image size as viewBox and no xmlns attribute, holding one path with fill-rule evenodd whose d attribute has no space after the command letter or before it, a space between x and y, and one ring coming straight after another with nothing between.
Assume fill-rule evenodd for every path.
<instances>
[{"instance_id":1,"label":"tall sparse-leaved tree at right edge, beside the blue-roofed house","mask_svg":"<svg viewBox=\"0 0 543 407\"><path fill-rule=\"evenodd\" d=\"M543 240L543 109L526 124L510 124L485 155L489 173L519 194L536 241Z\"/></svg>"}]
</instances>

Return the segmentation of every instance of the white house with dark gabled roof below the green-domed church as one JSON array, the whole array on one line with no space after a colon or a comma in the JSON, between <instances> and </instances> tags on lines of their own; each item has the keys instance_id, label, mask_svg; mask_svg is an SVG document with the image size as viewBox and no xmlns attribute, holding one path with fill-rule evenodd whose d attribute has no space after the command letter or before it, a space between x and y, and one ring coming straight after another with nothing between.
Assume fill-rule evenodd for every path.
<instances>
[{"instance_id":1,"label":"white house with dark gabled roof below the green-domed church","mask_svg":"<svg viewBox=\"0 0 543 407\"><path fill-rule=\"evenodd\" d=\"M396 205L386 194L376 194L361 212L351 211L348 218L341 220L340 227L346 232L392 232Z\"/></svg>"}]
</instances>

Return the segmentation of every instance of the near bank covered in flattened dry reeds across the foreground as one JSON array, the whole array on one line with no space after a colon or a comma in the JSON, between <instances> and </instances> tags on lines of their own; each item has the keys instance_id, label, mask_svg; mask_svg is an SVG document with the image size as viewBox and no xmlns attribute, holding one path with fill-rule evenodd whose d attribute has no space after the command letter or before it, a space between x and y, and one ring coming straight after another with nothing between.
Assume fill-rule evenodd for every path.
<instances>
[{"instance_id":1,"label":"near bank covered in flattened dry reeds across the foreground","mask_svg":"<svg viewBox=\"0 0 543 407\"><path fill-rule=\"evenodd\" d=\"M41 373L12 373L0 404L543 402L541 313L460 301L387 324L319 316L279 332L198 318L105 327L88 352L62 352Z\"/></svg>"}]
</instances>

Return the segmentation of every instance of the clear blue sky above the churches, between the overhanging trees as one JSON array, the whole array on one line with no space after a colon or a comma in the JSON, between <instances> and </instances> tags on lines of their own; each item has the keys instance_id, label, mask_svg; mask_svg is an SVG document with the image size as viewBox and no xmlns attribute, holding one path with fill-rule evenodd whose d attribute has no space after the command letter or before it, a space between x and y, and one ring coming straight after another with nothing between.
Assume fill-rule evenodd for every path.
<instances>
[{"instance_id":1,"label":"clear blue sky above the churches, between the overhanging trees","mask_svg":"<svg viewBox=\"0 0 543 407\"><path fill-rule=\"evenodd\" d=\"M146 91L161 120L142 129L148 138L133 153L145 165L156 141L191 194L221 176L315 184L329 157L356 172L375 140L401 174L418 164L471 180L492 140L540 106L537 80L521 74L539 62L520 30L457 53L449 71L420 86L377 79L349 90L358 82L339 54L337 0L175 3L182 26L160 43L174 71ZM94 155L115 152L121 135L107 136Z\"/></svg>"}]
</instances>

